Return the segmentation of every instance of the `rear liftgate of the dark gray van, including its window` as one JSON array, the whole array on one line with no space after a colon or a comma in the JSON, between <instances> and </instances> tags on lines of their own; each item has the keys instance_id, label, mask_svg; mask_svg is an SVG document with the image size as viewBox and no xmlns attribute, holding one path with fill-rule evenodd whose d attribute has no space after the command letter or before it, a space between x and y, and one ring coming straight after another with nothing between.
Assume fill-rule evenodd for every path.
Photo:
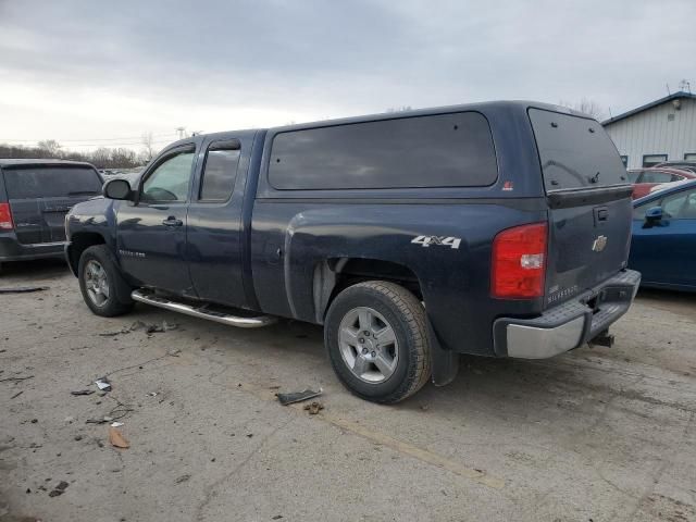
<instances>
[{"instance_id":1,"label":"rear liftgate of the dark gray van, including its window","mask_svg":"<svg viewBox=\"0 0 696 522\"><path fill-rule=\"evenodd\" d=\"M101 191L90 166L17 165L3 169L17 241L24 245L65 240L67 211Z\"/></svg>"}]
</instances>

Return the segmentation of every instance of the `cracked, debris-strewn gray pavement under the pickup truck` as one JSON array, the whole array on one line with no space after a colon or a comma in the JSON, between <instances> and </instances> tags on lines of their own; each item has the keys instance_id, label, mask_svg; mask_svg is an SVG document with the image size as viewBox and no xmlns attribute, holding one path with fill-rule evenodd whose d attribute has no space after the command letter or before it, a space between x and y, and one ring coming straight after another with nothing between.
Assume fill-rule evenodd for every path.
<instances>
[{"instance_id":1,"label":"cracked, debris-strewn gray pavement under the pickup truck","mask_svg":"<svg viewBox=\"0 0 696 522\"><path fill-rule=\"evenodd\" d=\"M2 522L696 521L696 296L642 291L613 348L464 358L384 407L337 383L315 326L102 319L53 261L8 266L15 285L49 289L0 295ZM306 387L320 414L275 400Z\"/></svg>"}]
</instances>

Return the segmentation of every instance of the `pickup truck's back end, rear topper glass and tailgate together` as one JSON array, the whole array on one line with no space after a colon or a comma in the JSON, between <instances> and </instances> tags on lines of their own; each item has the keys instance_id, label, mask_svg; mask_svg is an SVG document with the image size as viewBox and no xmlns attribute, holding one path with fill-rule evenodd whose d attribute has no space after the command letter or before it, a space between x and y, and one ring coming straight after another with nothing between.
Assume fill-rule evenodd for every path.
<instances>
[{"instance_id":1,"label":"pickup truck's back end, rear topper glass and tailgate together","mask_svg":"<svg viewBox=\"0 0 696 522\"><path fill-rule=\"evenodd\" d=\"M625 268L633 187L602 126L589 117L529 109L549 202L545 307Z\"/></svg>"}]
</instances>

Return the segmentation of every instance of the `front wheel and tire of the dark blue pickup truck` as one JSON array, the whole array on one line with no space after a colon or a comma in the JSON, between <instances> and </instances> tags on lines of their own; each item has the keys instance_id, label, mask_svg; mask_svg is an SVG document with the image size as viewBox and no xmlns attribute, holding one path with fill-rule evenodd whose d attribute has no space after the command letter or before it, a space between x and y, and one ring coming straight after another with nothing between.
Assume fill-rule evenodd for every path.
<instances>
[{"instance_id":1,"label":"front wheel and tire of the dark blue pickup truck","mask_svg":"<svg viewBox=\"0 0 696 522\"><path fill-rule=\"evenodd\" d=\"M83 299L92 313L113 318L133 309L130 287L105 245L96 245L83 252L77 276Z\"/></svg>"}]
</instances>

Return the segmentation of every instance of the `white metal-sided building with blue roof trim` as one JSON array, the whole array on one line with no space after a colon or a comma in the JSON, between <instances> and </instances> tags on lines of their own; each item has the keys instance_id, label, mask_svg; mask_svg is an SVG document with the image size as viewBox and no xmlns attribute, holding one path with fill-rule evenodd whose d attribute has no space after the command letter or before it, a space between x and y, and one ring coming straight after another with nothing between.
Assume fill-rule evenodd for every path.
<instances>
[{"instance_id":1,"label":"white metal-sided building with blue roof trim","mask_svg":"<svg viewBox=\"0 0 696 522\"><path fill-rule=\"evenodd\" d=\"M696 161L696 95L674 92L602 125L629 169Z\"/></svg>"}]
</instances>

